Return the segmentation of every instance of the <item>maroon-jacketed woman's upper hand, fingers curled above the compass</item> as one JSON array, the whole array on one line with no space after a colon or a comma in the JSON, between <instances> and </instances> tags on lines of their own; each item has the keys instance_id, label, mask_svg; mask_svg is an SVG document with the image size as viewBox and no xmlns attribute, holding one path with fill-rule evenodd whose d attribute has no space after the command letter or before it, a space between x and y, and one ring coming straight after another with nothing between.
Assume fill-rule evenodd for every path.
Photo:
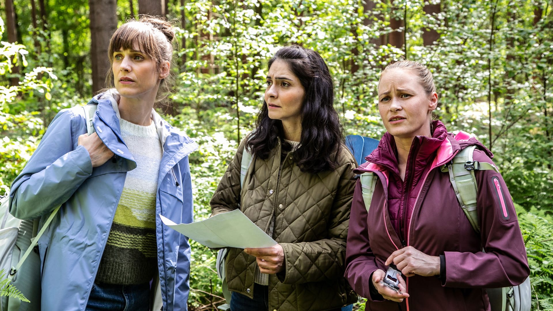
<instances>
[{"instance_id":1,"label":"maroon-jacketed woman's upper hand, fingers curled above the compass","mask_svg":"<svg viewBox=\"0 0 553 311\"><path fill-rule=\"evenodd\" d=\"M415 274L424 277L440 275L440 256L426 255L413 246L393 252L384 265L388 266L392 262L406 277L412 277Z\"/></svg>"}]
</instances>

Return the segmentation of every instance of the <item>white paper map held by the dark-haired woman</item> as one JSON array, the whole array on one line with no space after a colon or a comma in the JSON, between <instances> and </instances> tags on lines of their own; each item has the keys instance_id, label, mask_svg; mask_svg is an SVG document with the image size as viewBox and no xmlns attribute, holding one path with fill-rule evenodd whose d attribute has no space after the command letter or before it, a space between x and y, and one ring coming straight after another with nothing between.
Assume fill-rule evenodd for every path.
<instances>
[{"instance_id":1,"label":"white paper map held by the dark-haired woman","mask_svg":"<svg viewBox=\"0 0 553 311\"><path fill-rule=\"evenodd\" d=\"M163 223L207 247L272 247L275 240L256 226L240 210L223 212L190 224L175 224L159 214Z\"/></svg>"}]
</instances>

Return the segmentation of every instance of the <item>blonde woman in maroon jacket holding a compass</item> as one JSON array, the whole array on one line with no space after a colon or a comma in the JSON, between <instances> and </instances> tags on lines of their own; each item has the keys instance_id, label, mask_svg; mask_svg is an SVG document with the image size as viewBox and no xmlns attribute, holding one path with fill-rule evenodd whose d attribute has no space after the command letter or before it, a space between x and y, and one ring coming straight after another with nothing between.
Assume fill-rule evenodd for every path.
<instances>
[{"instance_id":1,"label":"blonde woman in maroon jacket holding a compass","mask_svg":"<svg viewBox=\"0 0 553 311\"><path fill-rule=\"evenodd\" d=\"M345 276L368 298L366 310L489 310L484 288L517 285L529 275L501 175L475 173L481 234L458 204L440 166L469 145L478 147L475 161L492 163L493 154L476 138L453 136L431 121L437 102L432 74L421 64L398 61L380 76L378 109L388 132L356 169L373 172L378 183L367 211L357 182L346 248ZM380 283L392 263L405 276L400 292Z\"/></svg>"}]
</instances>

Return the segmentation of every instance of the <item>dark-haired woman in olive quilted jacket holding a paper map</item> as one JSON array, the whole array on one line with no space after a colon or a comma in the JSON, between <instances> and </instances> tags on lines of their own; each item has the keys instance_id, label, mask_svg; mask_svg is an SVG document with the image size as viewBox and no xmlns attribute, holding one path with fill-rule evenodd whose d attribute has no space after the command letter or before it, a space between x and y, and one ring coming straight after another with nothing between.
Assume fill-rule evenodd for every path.
<instances>
[{"instance_id":1,"label":"dark-haired woman in olive quilted jacket holding a paper map","mask_svg":"<svg viewBox=\"0 0 553 311\"><path fill-rule=\"evenodd\" d=\"M211 199L213 215L241 209L278 242L229 249L233 311L340 310L357 300L343 278L356 162L333 97L315 51L286 46L270 59L257 127ZM241 186L244 148L253 158Z\"/></svg>"}]
</instances>

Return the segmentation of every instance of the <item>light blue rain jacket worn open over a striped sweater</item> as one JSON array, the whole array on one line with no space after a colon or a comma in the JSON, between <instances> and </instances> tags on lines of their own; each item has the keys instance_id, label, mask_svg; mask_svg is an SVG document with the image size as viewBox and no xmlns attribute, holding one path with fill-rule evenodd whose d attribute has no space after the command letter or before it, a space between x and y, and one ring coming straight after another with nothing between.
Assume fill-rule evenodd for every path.
<instances>
[{"instance_id":1,"label":"light blue rain jacket worn open over a striped sweater","mask_svg":"<svg viewBox=\"0 0 553 311\"><path fill-rule=\"evenodd\" d=\"M85 309L125 177L137 165L121 138L116 101L100 94L91 102L98 102L93 117L96 133L115 156L92 168L85 147L77 146L79 135L87 132L84 110L69 108L54 118L12 184L10 212L15 217L48 216L62 204L38 242L43 310ZM165 226L157 215L176 223L192 222L187 155L197 144L155 112L153 122L163 146L155 206L163 310L182 311L187 310L190 246L186 236Z\"/></svg>"}]
</instances>

